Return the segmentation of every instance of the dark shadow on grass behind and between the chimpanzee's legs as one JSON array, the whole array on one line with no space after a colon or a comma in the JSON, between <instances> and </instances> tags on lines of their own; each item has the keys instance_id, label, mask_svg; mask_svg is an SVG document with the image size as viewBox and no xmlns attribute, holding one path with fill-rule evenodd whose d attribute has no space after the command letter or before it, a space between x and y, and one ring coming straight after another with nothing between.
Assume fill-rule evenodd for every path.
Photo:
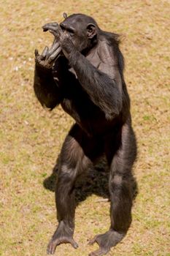
<instances>
[{"instance_id":1,"label":"dark shadow on grass behind and between the chimpanzee's legs","mask_svg":"<svg viewBox=\"0 0 170 256\"><path fill-rule=\"evenodd\" d=\"M56 180L58 175L58 162L53 167L51 176L45 178L44 187L55 192ZM77 205L84 201L90 195L98 195L109 200L109 168L105 159L101 159L93 169L89 169L77 179L75 184L75 200ZM132 178L134 189L134 199L138 194L136 178Z\"/></svg>"}]
</instances>

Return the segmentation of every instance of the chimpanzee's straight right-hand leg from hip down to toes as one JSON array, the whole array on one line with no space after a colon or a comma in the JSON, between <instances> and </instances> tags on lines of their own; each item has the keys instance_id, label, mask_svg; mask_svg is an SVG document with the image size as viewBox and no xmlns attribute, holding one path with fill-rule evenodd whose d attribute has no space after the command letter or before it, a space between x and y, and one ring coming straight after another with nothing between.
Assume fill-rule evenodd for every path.
<instances>
[{"instance_id":1,"label":"chimpanzee's straight right-hand leg from hip down to toes","mask_svg":"<svg viewBox=\"0 0 170 256\"><path fill-rule=\"evenodd\" d=\"M133 200L131 169L136 158L136 140L131 124L124 124L117 135L108 137L105 146L110 165L111 226L107 233L98 235L90 241L90 244L96 242L99 245L99 249L91 252L90 256L107 254L112 246L123 239L131 225Z\"/></svg>"}]
</instances>

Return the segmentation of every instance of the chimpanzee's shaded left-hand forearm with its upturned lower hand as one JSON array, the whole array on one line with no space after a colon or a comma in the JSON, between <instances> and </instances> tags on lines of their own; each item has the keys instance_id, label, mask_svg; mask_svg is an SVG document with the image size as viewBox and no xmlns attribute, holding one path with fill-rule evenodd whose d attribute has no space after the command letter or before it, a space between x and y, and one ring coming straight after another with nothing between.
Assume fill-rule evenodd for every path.
<instances>
[{"instance_id":1,"label":"chimpanzee's shaded left-hand forearm with its upturned lower hand","mask_svg":"<svg viewBox=\"0 0 170 256\"><path fill-rule=\"evenodd\" d=\"M55 55L51 50L55 50ZM60 51L61 48L56 44L50 50L46 47L42 55L35 51L34 92L41 105L51 110L62 99L60 86L55 82L52 70L53 62Z\"/></svg>"}]
</instances>

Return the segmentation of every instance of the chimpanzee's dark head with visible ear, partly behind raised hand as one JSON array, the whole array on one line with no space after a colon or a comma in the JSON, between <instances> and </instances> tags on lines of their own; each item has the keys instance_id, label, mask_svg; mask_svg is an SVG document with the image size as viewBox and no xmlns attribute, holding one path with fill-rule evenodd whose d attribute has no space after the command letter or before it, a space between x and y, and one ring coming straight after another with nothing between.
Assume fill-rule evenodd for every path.
<instances>
[{"instance_id":1,"label":"chimpanzee's dark head with visible ear, partly behind raised hand","mask_svg":"<svg viewBox=\"0 0 170 256\"><path fill-rule=\"evenodd\" d=\"M96 44L99 28L93 18L83 14L73 14L67 17L66 13L63 17L65 20L60 23L61 29L69 33L77 50L82 52Z\"/></svg>"}]
</instances>

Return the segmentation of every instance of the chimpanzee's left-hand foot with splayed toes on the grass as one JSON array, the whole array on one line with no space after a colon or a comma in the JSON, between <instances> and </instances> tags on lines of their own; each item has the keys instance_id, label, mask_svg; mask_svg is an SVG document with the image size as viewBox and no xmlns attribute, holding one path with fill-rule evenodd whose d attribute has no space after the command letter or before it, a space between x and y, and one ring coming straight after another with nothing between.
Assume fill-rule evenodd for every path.
<instances>
[{"instance_id":1,"label":"chimpanzee's left-hand foot with splayed toes on the grass","mask_svg":"<svg viewBox=\"0 0 170 256\"><path fill-rule=\"evenodd\" d=\"M47 246L47 255L53 255L56 246L59 244L67 243L72 244L75 249L78 248L78 244L74 241L72 230L61 222Z\"/></svg>"}]
</instances>

